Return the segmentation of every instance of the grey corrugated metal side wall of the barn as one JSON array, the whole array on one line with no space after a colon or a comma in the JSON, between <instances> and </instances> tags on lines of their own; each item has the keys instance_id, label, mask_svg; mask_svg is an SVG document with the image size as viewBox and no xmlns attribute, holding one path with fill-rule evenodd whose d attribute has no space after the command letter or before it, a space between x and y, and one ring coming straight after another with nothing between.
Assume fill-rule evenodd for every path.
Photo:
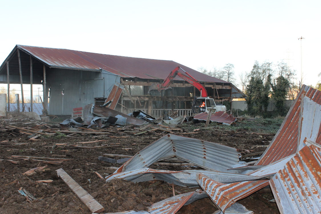
<instances>
[{"instance_id":1,"label":"grey corrugated metal side wall of the barn","mask_svg":"<svg viewBox=\"0 0 321 214\"><path fill-rule=\"evenodd\" d=\"M47 87L50 87L50 115L71 115L72 109L107 98L120 77L109 73L48 69Z\"/></svg>"}]
</instances>

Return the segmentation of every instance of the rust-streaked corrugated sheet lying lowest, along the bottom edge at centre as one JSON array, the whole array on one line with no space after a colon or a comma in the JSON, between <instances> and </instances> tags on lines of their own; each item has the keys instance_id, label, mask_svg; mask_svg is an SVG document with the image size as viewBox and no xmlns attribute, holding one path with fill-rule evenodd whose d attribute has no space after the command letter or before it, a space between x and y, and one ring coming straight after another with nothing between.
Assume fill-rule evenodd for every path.
<instances>
[{"instance_id":1,"label":"rust-streaked corrugated sheet lying lowest, along the bottom edge at centre","mask_svg":"<svg viewBox=\"0 0 321 214\"><path fill-rule=\"evenodd\" d=\"M117 213L105 214L175 214L182 206L188 205L196 200L207 198L207 194L203 191L190 192L175 195L163 201L156 202L147 211L125 211Z\"/></svg>"}]
</instances>

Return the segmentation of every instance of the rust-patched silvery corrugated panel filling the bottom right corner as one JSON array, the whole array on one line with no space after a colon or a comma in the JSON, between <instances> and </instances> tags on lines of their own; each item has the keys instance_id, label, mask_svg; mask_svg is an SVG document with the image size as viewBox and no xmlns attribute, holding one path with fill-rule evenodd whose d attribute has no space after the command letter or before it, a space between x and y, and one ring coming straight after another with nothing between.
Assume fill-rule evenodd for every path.
<instances>
[{"instance_id":1,"label":"rust-patched silvery corrugated panel filling the bottom right corner","mask_svg":"<svg viewBox=\"0 0 321 214\"><path fill-rule=\"evenodd\" d=\"M282 214L320 213L321 146L307 144L270 180Z\"/></svg>"}]
</instances>

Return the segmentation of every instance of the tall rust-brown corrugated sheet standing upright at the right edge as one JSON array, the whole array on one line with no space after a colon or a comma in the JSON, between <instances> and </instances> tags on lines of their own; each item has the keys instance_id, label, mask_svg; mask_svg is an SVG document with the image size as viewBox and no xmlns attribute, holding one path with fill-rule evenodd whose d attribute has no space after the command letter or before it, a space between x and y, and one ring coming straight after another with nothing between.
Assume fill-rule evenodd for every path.
<instances>
[{"instance_id":1,"label":"tall rust-brown corrugated sheet standing upright at the right edge","mask_svg":"<svg viewBox=\"0 0 321 214\"><path fill-rule=\"evenodd\" d=\"M299 141L298 129L299 129L299 125L301 125L301 121L299 118L300 109L301 109L301 100L302 98L305 98L305 97L311 100L311 102L313 101L317 103L317 105L321 105L321 91L310 88L306 85L303 85L295 102L293 103L287 116L285 117L279 131L276 133L272 142L270 143L268 148L265 150L261 158L256 162L256 165L267 165L279 159L295 154L297 152L298 141ZM309 111L307 109L305 110L306 110L305 111L306 117L315 118L315 116L317 116L315 115L316 112L314 110L313 111ZM310 114L310 116L308 116L307 114ZM304 123L306 122L309 123L309 121L304 121ZM310 121L310 123L311 122L312 121ZM308 127L308 126L305 126L305 127ZM316 142L319 144L321 143L320 133L321 133L321 129L319 128L318 134L316 137Z\"/></svg>"}]
</instances>

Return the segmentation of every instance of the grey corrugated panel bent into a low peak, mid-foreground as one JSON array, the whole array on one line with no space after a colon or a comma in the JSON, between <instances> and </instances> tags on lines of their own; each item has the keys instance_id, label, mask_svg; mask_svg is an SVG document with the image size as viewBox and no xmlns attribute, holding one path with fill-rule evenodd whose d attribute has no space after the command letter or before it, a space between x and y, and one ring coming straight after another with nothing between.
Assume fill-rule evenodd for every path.
<instances>
[{"instance_id":1,"label":"grey corrugated panel bent into a low peak, mid-foreground","mask_svg":"<svg viewBox=\"0 0 321 214\"><path fill-rule=\"evenodd\" d=\"M204 169L221 172L227 172L228 168L239 162L239 153L234 148L168 134L139 151L115 173L141 169L171 157L181 158Z\"/></svg>"}]
</instances>

